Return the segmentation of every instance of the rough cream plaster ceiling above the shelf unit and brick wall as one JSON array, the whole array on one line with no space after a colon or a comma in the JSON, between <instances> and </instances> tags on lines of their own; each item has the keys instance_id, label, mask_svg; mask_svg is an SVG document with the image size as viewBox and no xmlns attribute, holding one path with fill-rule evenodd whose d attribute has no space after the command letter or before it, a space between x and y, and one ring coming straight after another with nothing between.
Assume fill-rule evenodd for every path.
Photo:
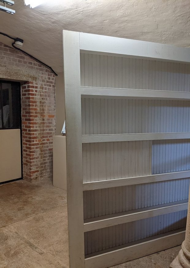
<instances>
[{"instance_id":1,"label":"rough cream plaster ceiling above the shelf unit and brick wall","mask_svg":"<svg viewBox=\"0 0 190 268\"><path fill-rule=\"evenodd\" d=\"M63 29L190 47L190 0L47 0L34 9L15 0L13 9L0 12L0 31L24 39L23 50L56 72Z\"/></svg>"}]
</instances>

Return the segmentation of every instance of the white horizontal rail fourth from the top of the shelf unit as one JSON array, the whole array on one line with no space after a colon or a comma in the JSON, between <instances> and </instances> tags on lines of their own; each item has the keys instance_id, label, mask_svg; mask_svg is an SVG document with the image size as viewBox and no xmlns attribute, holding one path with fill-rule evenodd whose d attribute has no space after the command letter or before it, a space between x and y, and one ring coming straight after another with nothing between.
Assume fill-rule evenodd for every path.
<instances>
[{"instance_id":1,"label":"white horizontal rail fourth from the top of the shelf unit","mask_svg":"<svg viewBox=\"0 0 190 268\"><path fill-rule=\"evenodd\" d=\"M127 185L135 185L135 184L141 184L141 183L167 181L167 180L172 180L172 179L184 179L184 178L189 178L189 177L190 177L190 171L187 170L187 171L169 172L169 173L146 175L146 176L139 176L139 177L100 180L100 181L83 183L83 191L105 189L105 188L127 186Z\"/></svg>"}]
</instances>

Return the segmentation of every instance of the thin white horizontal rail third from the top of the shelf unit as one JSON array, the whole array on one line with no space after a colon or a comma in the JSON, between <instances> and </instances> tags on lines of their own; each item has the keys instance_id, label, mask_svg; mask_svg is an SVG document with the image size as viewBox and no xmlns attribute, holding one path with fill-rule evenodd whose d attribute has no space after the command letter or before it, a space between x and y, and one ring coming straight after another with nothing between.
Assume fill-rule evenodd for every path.
<instances>
[{"instance_id":1,"label":"thin white horizontal rail third from the top of the shelf unit","mask_svg":"<svg viewBox=\"0 0 190 268\"><path fill-rule=\"evenodd\" d=\"M82 143L190 139L190 132L82 135Z\"/></svg>"}]
</instances>

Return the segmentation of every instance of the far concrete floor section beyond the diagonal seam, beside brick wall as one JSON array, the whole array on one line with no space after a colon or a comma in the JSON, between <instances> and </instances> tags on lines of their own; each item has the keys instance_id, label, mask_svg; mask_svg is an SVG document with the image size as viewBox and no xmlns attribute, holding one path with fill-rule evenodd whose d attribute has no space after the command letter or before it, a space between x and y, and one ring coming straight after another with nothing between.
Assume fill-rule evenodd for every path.
<instances>
[{"instance_id":1,"label":"far concrete floor section beyond the diagonal seam, beside brick wall","mask_svg":"<svg viewBox=\"0 0 190 268\"><path fill-rule=\"evenodd\" d=\"M66 204L66 191L50 179L30 183L20 180L0 185L0 227Z\"/></svg>"}]
</instances>

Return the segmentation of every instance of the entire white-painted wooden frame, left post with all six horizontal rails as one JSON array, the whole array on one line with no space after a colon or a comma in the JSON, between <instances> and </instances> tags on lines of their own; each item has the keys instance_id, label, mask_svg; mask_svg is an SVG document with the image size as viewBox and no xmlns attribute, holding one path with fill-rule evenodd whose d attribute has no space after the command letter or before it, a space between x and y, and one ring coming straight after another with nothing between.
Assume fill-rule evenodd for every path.
<instances>
[{"instance_id":1,"label":"entire white-painted wooden frame, left post with all six horizontal rails","mask_svg":"<svg viewBox=\"0 0 190 268\"><path fill-rule=\"evenodd\" d=\"M91 219L91 221L84 221L83 191L189 178L190 171L111 180L103 179L84 183L82 143L189 139L190 134L189 132L173 132L82 135L81 98L190 100L190 93L81 86L80 52L189 63L190 49L63 30L70 268L106 268L177 246L184 240L184 231L170 232L154 236L152 239L139 240L138 243L131 243L127 247L113 248L112 251L107 252L100 251L99 254L88 255L86 258L84 232L154 217L155 215L163 215L169 213L169 211L185 210L187 202L171 202L167 205L153 206L140 210L135 209L120 215L113 214L112 217L99 217Z\"/></svg>"}]
</instances>

